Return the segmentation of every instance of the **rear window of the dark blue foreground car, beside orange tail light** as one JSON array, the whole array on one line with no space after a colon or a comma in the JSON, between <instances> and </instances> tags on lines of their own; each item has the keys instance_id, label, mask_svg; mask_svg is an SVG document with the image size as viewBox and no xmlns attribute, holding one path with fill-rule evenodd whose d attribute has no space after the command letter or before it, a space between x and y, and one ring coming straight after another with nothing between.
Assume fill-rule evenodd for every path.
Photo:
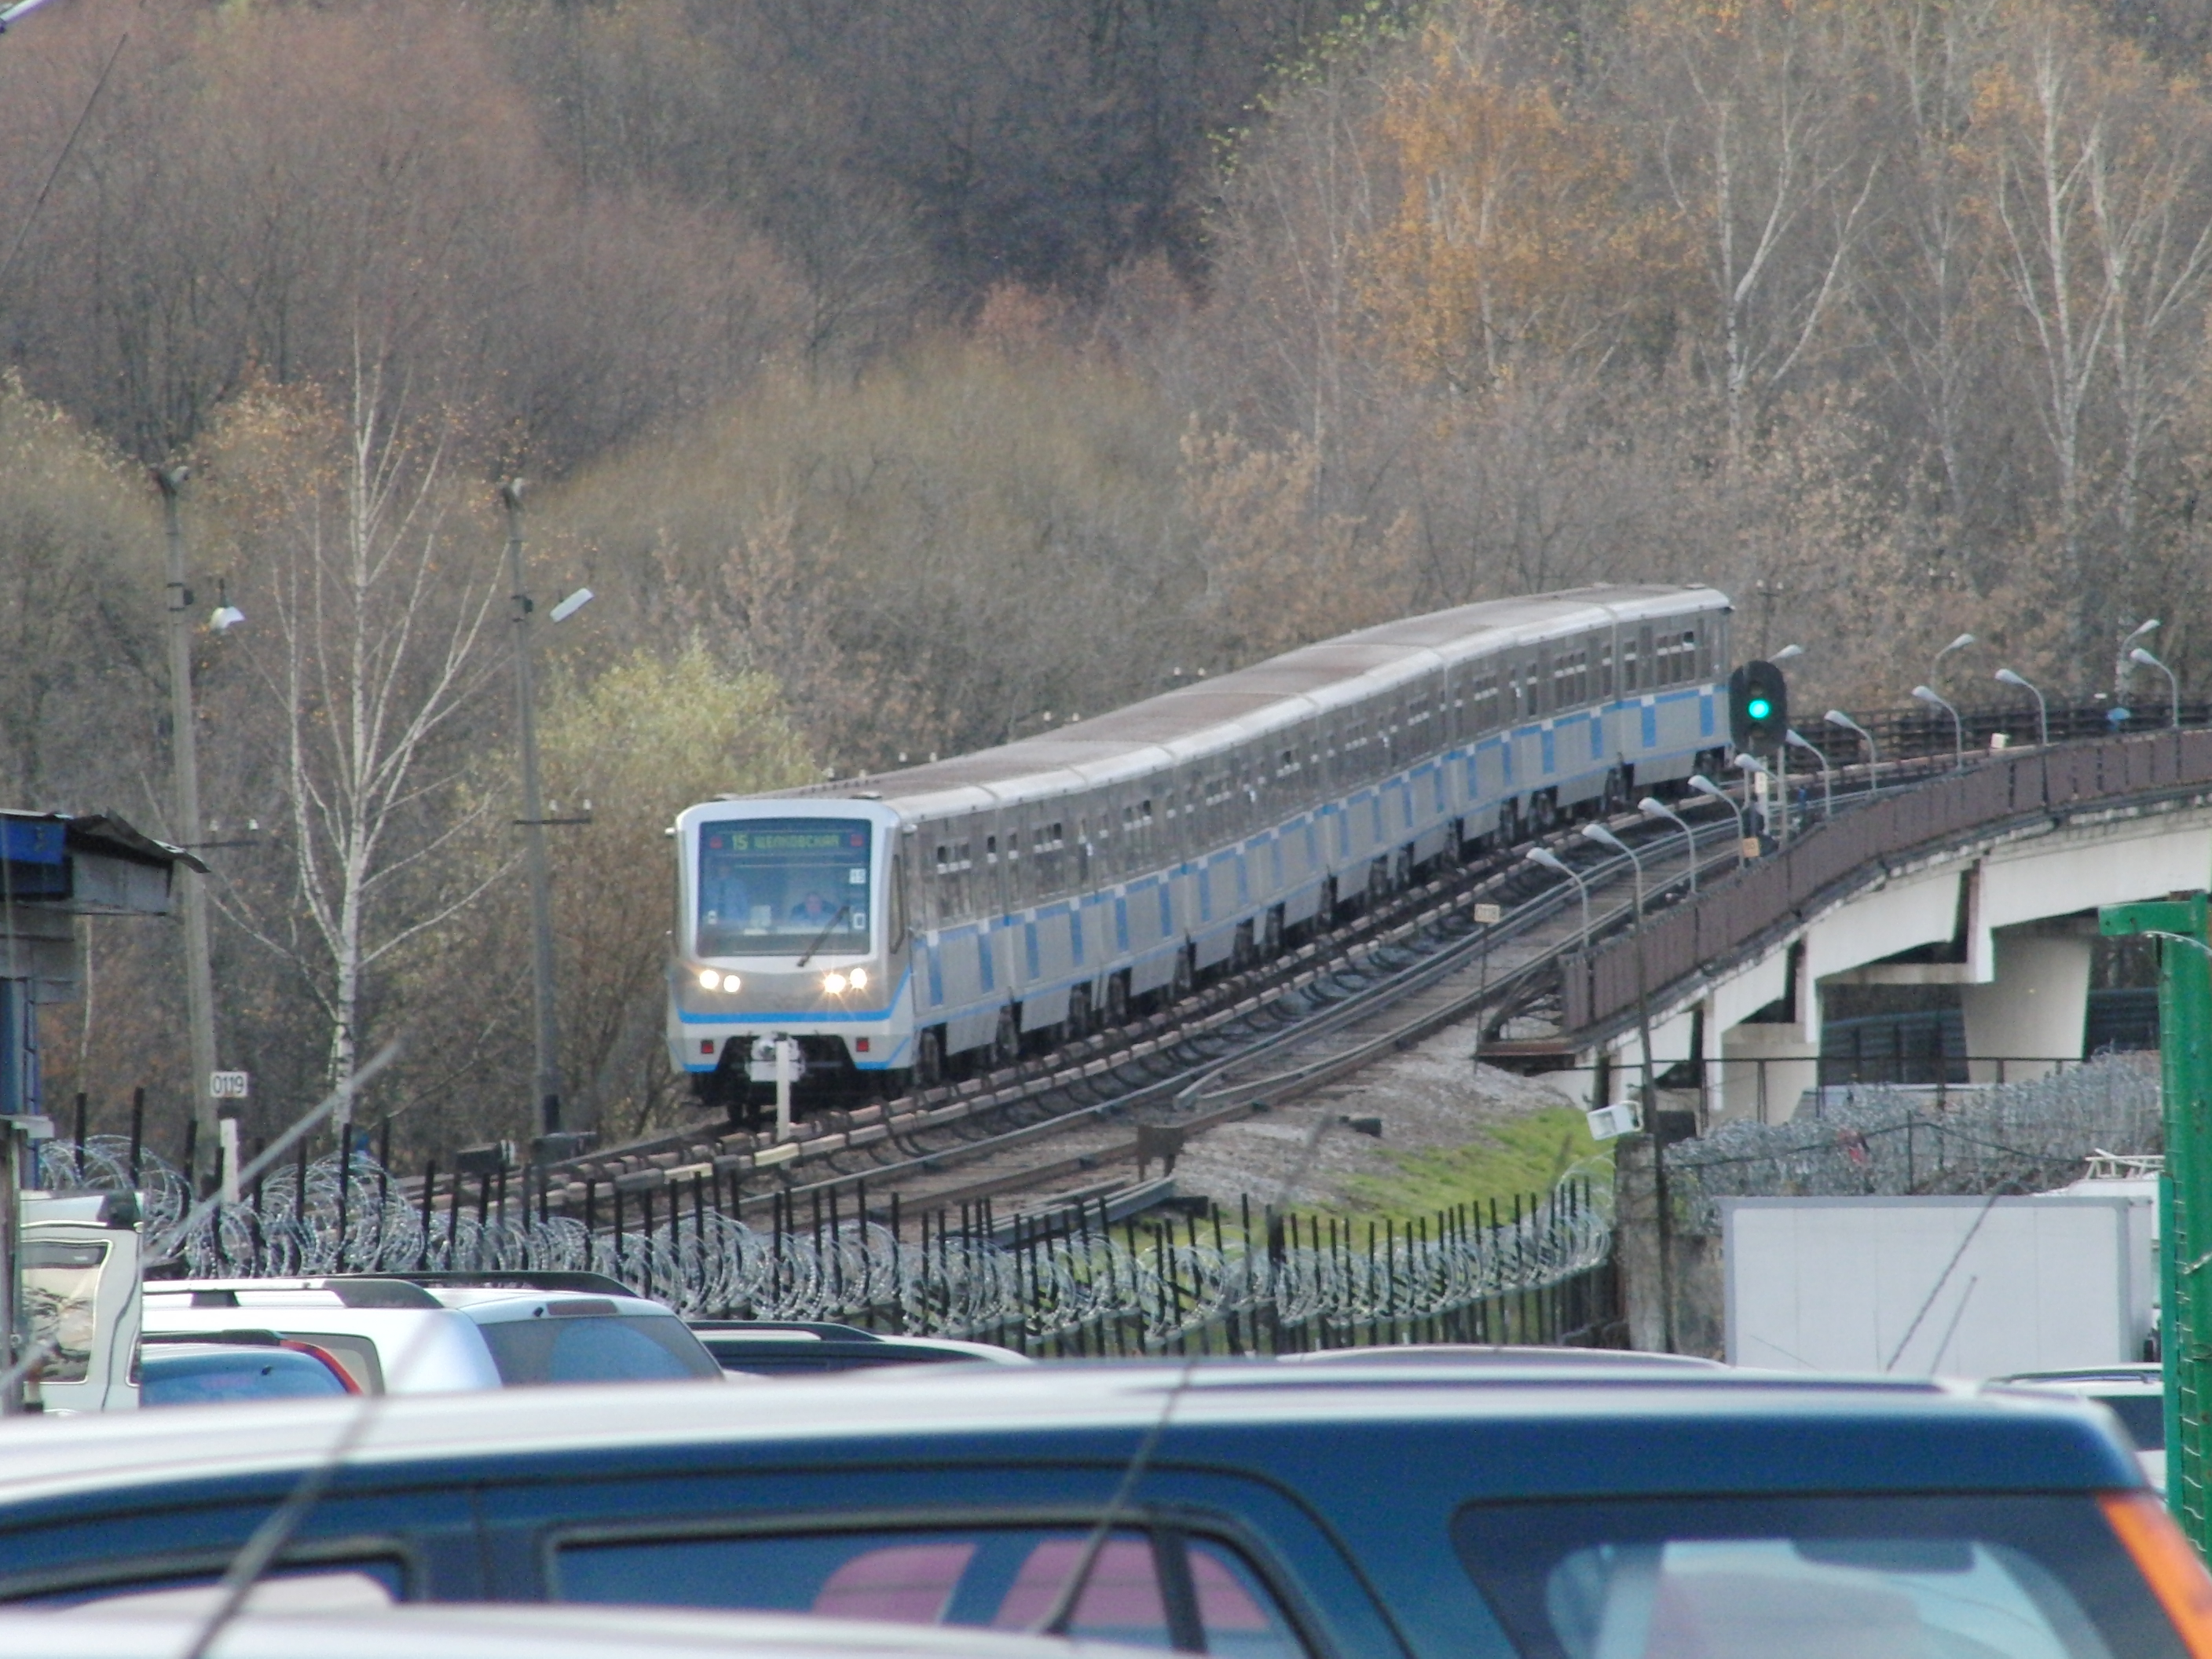
<instances>
[{"instance_id":1,"label":"rear window of the dark blue foreground car, beside orange tail light","mask_svg":"<svg viewBox=\"0 0 2212 1659\"><path fill-rule=\"evenodd\" d=\"M1524 1659L2181 1659L2095 1498L1475 1504Z\"/></svg>"}]
</instances>

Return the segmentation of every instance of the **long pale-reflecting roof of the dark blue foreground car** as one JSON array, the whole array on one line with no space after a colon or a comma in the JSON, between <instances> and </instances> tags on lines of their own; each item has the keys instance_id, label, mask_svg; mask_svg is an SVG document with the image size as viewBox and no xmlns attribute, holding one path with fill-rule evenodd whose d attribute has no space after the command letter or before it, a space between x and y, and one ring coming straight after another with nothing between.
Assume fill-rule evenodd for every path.
<instances>
[{"instance_id":1,"label":"long pale-reflecting roof of the dark blue foreground car","mask_svg":"<svg viewBox=\"0 0 2212 1659\"><path fill-rule=\"evenodd\" d=\"M305 1400L7 1420L0 1506L288 1478L327 1455L347 1409ZM1836 1489L1838 1471L1854 1491L2141 1484L2106 1413L2057 1391L1544 1365L1385 1376L1234 1360L876 1367L739 1394L624 1383L387 1396L334 1482L522 1455L690 1471L706 1449L759 1462L911 1462L918 1442L951 1462L1117 1462L1164 1416L1161 1464L1274 1460L1287 1478L1318 1480L1307 1464L1323 1444L1352 1464L1391 1449L1418 1464L1433 1451L1464 1498L1809 1491ZM1469 1436L1484 1455L1464 1455Z\"/></svg>"}]
</instances>

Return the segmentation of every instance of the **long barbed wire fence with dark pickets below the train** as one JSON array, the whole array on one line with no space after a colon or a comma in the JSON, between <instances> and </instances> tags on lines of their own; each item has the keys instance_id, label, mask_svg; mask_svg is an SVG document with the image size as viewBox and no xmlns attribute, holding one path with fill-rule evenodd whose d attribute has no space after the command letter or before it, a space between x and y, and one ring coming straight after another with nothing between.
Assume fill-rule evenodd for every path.
<instances>
[{"instance_id":1,"label":"long barbed wire fence with dark pickets below the train","mask_svg":"<svg viewBox=\"0 0 2212 1659\"><path fill-rule=\"evenodd\" d=\"M706 1318L838 1321L993 1340L1031 1354L1274 1354L1402 1340L1601 1343L1615 1334L1610 1172L1573 1170L1511 1210L1455 1206L1356 1225L1250 1201L1110 1221L1104 1203L1000 1219L989 1203L922 1214L814 1212L770 1225L706 1190L659 1219L593 1228L513 1208L414 1203L356 1150L268 1177L190 1232L190 1183L124 1137L40 1150L58 1190L144 1194L150 1259L195 1279L330 1272L597 1272ZM133 1159L137 1164L133 1179ZM619 1212L617 1212L619 1214Z\"/></svg>"}]
</instances>

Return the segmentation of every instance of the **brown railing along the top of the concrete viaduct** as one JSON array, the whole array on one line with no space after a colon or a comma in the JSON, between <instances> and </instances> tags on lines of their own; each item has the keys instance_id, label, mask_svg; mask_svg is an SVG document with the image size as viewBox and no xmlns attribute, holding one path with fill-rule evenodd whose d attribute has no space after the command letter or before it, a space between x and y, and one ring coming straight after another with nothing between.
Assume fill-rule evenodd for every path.
<instances>
[{"instance_id":1,"label":"brown railing along the top of the concrete viaduct","mask_svg":"<svg viewBox=\"0 0 2212 1659\"><path fill-rule=\"evenodd\" d=\"M1885 768L1887 770L1887 768ZM1632 1015L1657 993L1871 883L1887 863L1933 852L2006 821L2212 785L2212 732L2163 730L2035 750L2000 750L1816 823L1770 858L1708 880L1694 900L1646 916L1641 940L1615 936L1562 958L1566 1031Z\"/></svg>"}]
</instances>

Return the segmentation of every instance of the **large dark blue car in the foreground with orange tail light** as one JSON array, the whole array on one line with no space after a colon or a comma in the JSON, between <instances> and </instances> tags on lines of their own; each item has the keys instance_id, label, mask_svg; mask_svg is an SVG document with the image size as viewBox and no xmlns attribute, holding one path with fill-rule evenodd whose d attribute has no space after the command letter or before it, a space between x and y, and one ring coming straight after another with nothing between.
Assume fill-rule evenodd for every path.
<instances>
[{"instance_id":1,"label":"large dark blue car in the foreground with orange tail light","mask_svg":"<svg viewBox=\"0 0 2212 1659\"><path fill-rule=\"evenodd\" d=\"M272 1571L396 1599L1024 1628L1104 1535L1073 1635L1228 1659L2212 1652L2110 1416L2026 1389L1137 1363L367 1409L0 1425L0 1601L212 1584L314 1478Z\"/></svg>"}]
</instances>

